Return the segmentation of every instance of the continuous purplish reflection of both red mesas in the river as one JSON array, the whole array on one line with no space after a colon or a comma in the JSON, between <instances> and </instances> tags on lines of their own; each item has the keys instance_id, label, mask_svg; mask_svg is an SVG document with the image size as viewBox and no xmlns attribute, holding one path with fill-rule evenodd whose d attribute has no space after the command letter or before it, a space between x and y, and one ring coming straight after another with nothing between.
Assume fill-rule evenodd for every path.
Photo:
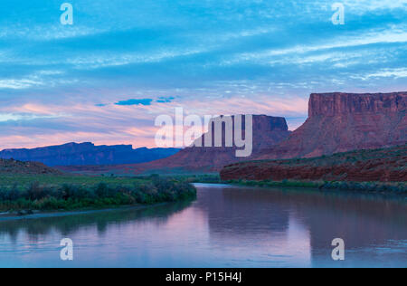
<instances>
[{"instance_id":1,"label":"continuous purplish reflection of both red mesas in the river","mask_svg":"<svg viewBox=\"0 0 407 286\"><path fill-rule=\"evenodd\" d=\"M334 238L346 249L407 241L407 205L400 196L267 190L251 187L211 189L200 195L197 206L208 214L213 238L256 239L288 232L290 219L308 230L313 253L332 251Z\"/></svg>"}]
</instances>

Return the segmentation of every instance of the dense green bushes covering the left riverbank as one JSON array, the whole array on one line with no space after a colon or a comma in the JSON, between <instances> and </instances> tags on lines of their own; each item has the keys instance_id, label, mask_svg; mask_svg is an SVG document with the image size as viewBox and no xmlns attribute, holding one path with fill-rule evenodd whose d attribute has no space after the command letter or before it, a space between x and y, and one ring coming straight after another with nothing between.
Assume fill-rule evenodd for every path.
<instances>
[{"instance_id":1,"label":"dense green bushes covering the left riverbank","mask_svg":"<svg viewBox=\"0 0 407 286\"><path fill-rule=\"evenodd\" d=\"M33 176L31 179L32 182L27 185L29 177L10 176L6 179L8 185L0 185L1 213L26 215L33 211L153 205L196 197L193 185L169 177L149 176L133 180L119 177ZM19 185L22 181L25 184ZM80 184L75 184L75 181Z\"/></svg>"}]
</instances>

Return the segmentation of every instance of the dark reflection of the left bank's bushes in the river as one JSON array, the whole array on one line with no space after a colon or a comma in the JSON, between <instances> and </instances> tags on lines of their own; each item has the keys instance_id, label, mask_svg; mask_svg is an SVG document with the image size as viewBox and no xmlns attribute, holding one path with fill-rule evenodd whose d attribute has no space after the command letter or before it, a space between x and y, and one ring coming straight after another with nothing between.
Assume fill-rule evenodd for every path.
<instances>
[{"instance_id":1,"label":"dark reflection of the left bank's bushes in the river","mask_svg":"<svg viewBox=\"0 0 407 286\"><path fill-rule=\"evenodd\" d=\"M45 217L29 220L14 220L0 222L0 235L9 234L12 241L16 241L20 232L30 236L36 241L38 236L57 231L62 236L68 236L79 231L80 228L96 225L99 234L104 234L109 224L131 224L137 220L166 224L169 216L178 213L191 205L191 202L179 202L166 205L156 205L143 209L116 209L106 212L90 213L84 215L68 215L58 217Z\"/></svg>"}]
</instances>

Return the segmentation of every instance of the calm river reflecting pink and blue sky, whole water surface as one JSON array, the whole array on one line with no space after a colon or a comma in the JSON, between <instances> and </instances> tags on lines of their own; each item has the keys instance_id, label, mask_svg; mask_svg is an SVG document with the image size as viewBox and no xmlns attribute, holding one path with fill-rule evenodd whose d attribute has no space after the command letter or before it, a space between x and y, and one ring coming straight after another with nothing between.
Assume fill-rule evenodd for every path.
<instances>
[{"instance_id":1,"label":"calm river reflecting pink and blue sky, whole water surface","mask_svg":"<svg viewBox=\"0 0 407 286\"><path fill-rule=\"evenodd\" d=\"M188 204L0 222L0 266L407 266L404 198L197 187ZM344 262L331 259L336 237ZM62 238L72 262L60 259Z\"/></svg>"}]
</instances>

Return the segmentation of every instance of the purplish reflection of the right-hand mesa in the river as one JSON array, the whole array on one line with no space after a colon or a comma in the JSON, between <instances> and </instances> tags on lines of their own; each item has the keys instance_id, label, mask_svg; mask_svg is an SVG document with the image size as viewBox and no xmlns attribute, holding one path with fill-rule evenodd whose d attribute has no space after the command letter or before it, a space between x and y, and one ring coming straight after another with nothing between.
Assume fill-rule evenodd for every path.
<instances>
[{"instance_id":1,"label":"purplish reflection of the right-hand mesa in the river","mask_svg":"<svg viewBox=\"0 0 407 286\"><path fill-rule=\"evenodd\" d=\"M329 257L336 237L344 239L347 250L407 241L404 197L329 192L298 200L296 213L308 225L313 254Z\"/></svg>"}]
</instances>

